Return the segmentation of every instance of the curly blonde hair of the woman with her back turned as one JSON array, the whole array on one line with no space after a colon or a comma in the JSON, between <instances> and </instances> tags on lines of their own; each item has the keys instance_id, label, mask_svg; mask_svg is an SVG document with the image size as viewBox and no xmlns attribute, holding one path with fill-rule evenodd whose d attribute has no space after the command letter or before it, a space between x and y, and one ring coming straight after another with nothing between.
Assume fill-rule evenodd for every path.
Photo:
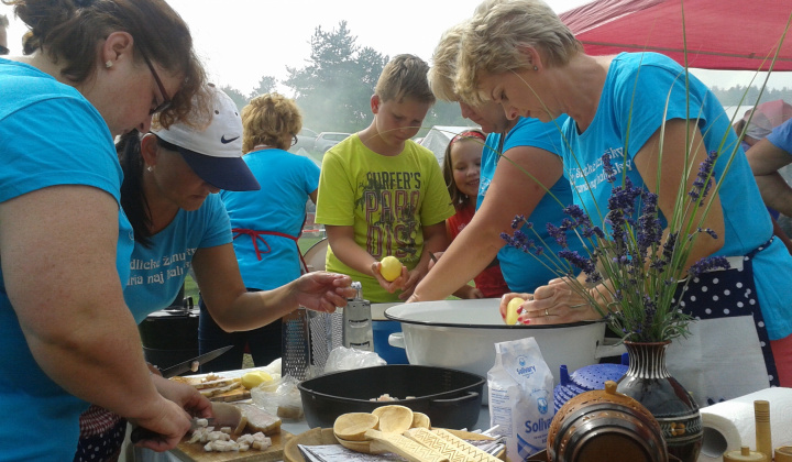
<instances>
[{"instance_id":1,"label":"curly blonde hair of the woman with her back turned","mask_svg":"<svg viewBox=\"0 0 792 462\"><path fill-rule=\"evenodd\" d=\"M302 114L293 99L276 92L260 95L242 108L242 129L244 154L261 144L286 151L302 130Z\"/></svg>"}]
</instances>

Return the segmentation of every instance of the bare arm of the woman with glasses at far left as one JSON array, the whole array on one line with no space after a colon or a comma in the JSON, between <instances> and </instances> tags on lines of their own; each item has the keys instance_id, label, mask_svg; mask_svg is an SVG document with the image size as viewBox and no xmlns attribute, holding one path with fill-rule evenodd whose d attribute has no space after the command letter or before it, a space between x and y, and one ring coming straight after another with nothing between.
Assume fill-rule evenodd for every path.
<instances>
[{"instance_id":1,"label":"bare arm of the woman with glasses at far left","mask_svg":"<svg viewBox=\"0 0 792 462\"><path fill-rule=\"evenodd\" d=\"M0 204L6 288L33 356L53 381L178 442L188 416L152 384L123 301L118 208L88 186L48 187Z\"/></svg>"}]
</instances>

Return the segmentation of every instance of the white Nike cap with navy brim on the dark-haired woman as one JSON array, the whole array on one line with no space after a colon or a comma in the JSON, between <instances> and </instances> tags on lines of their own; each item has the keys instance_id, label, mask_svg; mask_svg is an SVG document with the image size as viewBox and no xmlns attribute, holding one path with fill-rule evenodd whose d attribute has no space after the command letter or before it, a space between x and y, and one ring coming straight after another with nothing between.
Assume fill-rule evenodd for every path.
<instances>
[{"instance_id":1,"label":"white Nike cap with navy brim on the dark-haired woman","mask_svg":"<svg viewBox=\"0 0 792 462\"><path fill-rule=\"evenodd\" d=\"M152 125L152 133L178 147L179 153L201 179L230 191L261 189L248 164L242 160L242 118L231 97L213 85L212 119L204 131L184 123L167 129Z\"/></svg>"}]
</instances>

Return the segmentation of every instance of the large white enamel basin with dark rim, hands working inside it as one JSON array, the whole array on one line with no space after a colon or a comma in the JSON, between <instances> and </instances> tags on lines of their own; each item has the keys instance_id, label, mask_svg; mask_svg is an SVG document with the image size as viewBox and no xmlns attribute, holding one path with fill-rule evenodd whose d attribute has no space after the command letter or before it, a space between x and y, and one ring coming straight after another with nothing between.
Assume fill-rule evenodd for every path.
<instances>
[{"instance_id":1,"label":"large white enamel basin with dark rim, hands working inside it","mask_svg":"<svg viewBox=\"0 0 792 462\"><path fill-rule=\"evenodd\" d=\"M407 350L410 364L457 369L486 377L495 364L495 343L534 337L559 383L559 370L596 364L604 321L557 326L506 326L499 299L420 301L396 305L385 317L402 322L404 337L392 334L394 346Z\"/></svg>"}]
</instances>

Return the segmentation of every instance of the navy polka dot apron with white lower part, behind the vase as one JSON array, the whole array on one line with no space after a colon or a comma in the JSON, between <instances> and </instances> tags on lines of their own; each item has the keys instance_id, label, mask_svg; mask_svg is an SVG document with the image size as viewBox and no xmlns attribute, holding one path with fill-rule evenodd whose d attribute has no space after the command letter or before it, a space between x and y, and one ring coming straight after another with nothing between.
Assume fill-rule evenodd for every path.
<instances>
[{"instance_id":1,"label":"navy polka dot apron with white lower part, behind the vase","mask_svg":"<svg viewBox=\"0 0 792 462\"><path fill-rule=\"evenodd\" d=\"M704 273L680 290L681 309L696 321L692 336L674 339L667 363L698 406L779 385L751 263L773 239L730 257L729 270Z\"/></svg>"}]
</instances>

